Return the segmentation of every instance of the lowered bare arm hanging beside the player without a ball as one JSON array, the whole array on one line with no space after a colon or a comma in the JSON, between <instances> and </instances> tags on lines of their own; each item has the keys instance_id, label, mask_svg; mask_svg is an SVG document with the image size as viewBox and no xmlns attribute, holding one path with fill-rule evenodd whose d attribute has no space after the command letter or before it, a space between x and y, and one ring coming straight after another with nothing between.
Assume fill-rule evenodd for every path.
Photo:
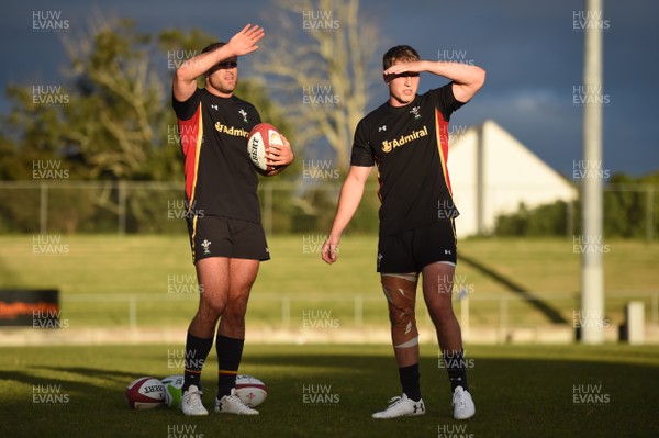
<instances>
[{"instance_id":1,"label":"lowered bare arm hanging beside the player without a ball","mask_svg":"<svg viewBox=\"0 0 659 438\"><path fill-rule=\"evenodd\" d=\"M332 231L323 244L321 256L325 262L332 265L338 259L337 249L340 235L348 225L364 194L364 186L371 171L371 167L350 166L350 171L340 189L338 206Z\"/></svg>"}]
</instances>

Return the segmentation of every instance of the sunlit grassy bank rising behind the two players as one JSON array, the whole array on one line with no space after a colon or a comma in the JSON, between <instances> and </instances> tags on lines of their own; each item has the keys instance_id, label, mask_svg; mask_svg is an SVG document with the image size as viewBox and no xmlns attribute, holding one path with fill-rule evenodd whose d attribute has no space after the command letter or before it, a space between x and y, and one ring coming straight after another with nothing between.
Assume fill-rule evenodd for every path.
<instances>
[{"instance_id":1,"label":"sunlit grassy bank rising behind the two players","mask_svg":"<svg viewBox=\"0 0 659 438\"><path fill-rule=\"evenodd\" d=\"M194 293L170 293L170 278L194 289L194 270L186 235L127 236L60 235L67 254L34 254L32 235L0 236L0 288L57 288L62 317L72 326L129 324L127 295L134 296L138 325L186 325L197 306ZM281 326L282 306L290 305L290 327L299 328L305 310L332 312L342 327L356 326L355 297L364 300L364 324L387 324L386 303L375 272L376 236L345 236L339 261L320 260L320 235L270 236L273 259L261 265L253 289L253 325ZM640 240L606 243L606 317L623 319L625 304L640 300L650 318L651 294L659 294L656 260L659 244ZM581 258L570 239L463 239L456 278L470 291L472 326L496 326L501 299L509 302L509 324L550 324L528 301L520 301L510 283L543 300L569 324L579 307ZM503 278L498 281L491 273ZM179 289L180 290L180 289ZM90 302L90 295L103 302ZM82 300L82 301L81 301ZM109 301L118 300L118 301ZM287 301L288 300L288 301ZM458 304L456 304L456 307ZM422 324L427 322L420 306Z\"/></svg>"}]
</instances>

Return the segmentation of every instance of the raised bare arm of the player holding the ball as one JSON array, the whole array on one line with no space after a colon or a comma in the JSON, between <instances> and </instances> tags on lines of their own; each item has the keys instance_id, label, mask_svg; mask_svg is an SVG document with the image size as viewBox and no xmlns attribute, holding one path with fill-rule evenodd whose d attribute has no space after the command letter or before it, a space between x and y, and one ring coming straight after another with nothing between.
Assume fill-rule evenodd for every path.
<instances>
[{"instance_id":1,"label":"raised bare arm of the player holding the ball","mask_svg":"<svg viewBox=\"0 0 659 438\"><path fill-rule=\"evenodd\" d=\"M186 60L174 74L174 97L183 102L194 93L197 78L225 59L247 55L258 48L256 43L264 37L264 30L258 25L247 24L225 45L215 50L199 54Z\"/></svg>"}]
</instances>

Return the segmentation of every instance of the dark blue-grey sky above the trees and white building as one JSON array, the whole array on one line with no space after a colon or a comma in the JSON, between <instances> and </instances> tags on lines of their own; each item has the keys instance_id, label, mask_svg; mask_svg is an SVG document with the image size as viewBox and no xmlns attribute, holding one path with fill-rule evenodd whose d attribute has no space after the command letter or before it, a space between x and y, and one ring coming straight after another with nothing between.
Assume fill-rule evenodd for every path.
<instances>
[{"instance_id":1,"label":"dark blue-grey sky above the trees and white building","mask_svg":"<svg viewBox=\"0 0 659 438\"><path fill-rule=\"evenodd\" d=\"M131 16L143 32L200 27L226 40L245 23L261 23L271 0L25 0L5 5L0 26L0 83L62 83L66 65L54 33L33 31L34 11L62 11L71 32L90 16ZM443 53L482 66L488 81L451 122L471 125L492 119L551 167L571 175L581 151L581 108L573 88L582 83L583 33L573 29L581 0L362 0L361 20L379 26L378 57L410 44L423 58ZM659 169L659 2L604 0L604 168L643 176ZM277 37L276 26L267 37ZM448 52L445 52L448 50ZM454 52L455 50L455 52ZM257 54L253 55L257 56ZM244 71L245 72L245 71ZM246 71L249 75L249 70ZM421 90L445 83L422 76ZM369 110L386 99L381 87ZM8 111L4 97L0 112Z\"/></svg>"}]
</instances>

